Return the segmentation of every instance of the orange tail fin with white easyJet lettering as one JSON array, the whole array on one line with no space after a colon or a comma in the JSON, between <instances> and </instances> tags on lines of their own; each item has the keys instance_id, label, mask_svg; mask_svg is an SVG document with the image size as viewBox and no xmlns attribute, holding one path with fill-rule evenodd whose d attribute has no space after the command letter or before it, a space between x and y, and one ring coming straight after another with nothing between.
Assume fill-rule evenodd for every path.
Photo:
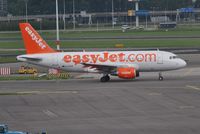
<instances>
[{"instance_id":1,"label":"orange tail fin with white easyJet lettering","mask_svg":"<svg viewBox=\"0 0 200 134\"><path fill-rule=\"evenodd\" d=\"M26 48L27 54L56 52L42 39L42 37L29 23L20 23L19 27L22 33L22 38L24 40L24 46Z\"/></svg>"}]
</instances>

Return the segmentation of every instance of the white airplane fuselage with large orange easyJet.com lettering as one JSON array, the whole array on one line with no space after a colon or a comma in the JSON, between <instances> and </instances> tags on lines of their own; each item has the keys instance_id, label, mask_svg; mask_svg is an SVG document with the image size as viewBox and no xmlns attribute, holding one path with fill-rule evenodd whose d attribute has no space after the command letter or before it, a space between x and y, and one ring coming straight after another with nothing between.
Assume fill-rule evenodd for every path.
<instances>
[{"instance_id":1,"label":"white airplane fuselage with large orange easyJet.com lettering","mask_svg":"<svg viewBox=\"0 0 200 134\"><path fill-rule=\"evenodd\" d=\"M36 58L40 60L28 60ZM165 51L108 51L108 52L57 52L48 54L20 55L18 60L57 68L69 72L93 72L95 68L82 63L134 67L139 72L169 71L186 66L186 62Z\"/></svg>"}]
</instances>

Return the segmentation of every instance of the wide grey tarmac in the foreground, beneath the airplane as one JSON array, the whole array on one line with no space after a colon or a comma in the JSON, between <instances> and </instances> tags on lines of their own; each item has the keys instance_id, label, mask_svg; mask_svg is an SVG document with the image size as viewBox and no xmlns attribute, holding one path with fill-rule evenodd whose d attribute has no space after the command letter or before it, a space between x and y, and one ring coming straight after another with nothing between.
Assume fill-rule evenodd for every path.
<instances>
[{"instance_id":1,"label":"wide grey tarmac in the foreground, beneath the airplane","mask_svg":"<svg viewBox=\"0 0 200 134\"><path fill-rule=\"evenodd\" d=\"M200 133L200 67L157 75L0 82L0 123L48 134Z\"/></svg>"}]
</instances>

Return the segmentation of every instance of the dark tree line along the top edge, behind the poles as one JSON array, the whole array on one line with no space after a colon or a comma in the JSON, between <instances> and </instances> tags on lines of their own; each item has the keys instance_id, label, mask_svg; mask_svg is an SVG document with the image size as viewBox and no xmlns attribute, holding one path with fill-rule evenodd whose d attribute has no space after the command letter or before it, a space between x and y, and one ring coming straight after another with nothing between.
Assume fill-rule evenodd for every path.
<instances>
[{"instance_id":1,"label":"dark tree line along the top edge, behind the poles","mask_svg":"<svg viewBox=\"0 0 200 134\"><path fill-rule=\"evenodd\" d=\"M200 0L143 0L141 9L146 10L176 10L182 7L200 7ZM8 13L12 15L25 15L26 3L28 14L55 14L55 0L8 0ZM64 5L66 13L73 12L73 0L58 0L59 12L63 13ZM64 4L65 3L65 4ZM126 12L134 9L133 2L128 0L113 0L114 11ZM111 12L112 0L74 0L75 12Z\"/></svg>"}]
</instances>

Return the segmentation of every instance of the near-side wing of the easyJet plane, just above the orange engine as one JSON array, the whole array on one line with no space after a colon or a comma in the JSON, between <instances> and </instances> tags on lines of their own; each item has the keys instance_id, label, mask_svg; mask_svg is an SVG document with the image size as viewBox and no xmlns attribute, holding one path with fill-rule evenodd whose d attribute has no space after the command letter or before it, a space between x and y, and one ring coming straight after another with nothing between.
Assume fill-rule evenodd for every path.
<instances>
[{"instance_id":1,"label":"near-side wing of the easyJet plane, just above the orange engine","mask_svg":"<svg viewBox=\"0 0 200 134\"><path fill-rule=\"evenodd\" d=\"M91 69L96 69L99 72L103 72L103 73L111 73L113 71L116 71L117 68L119 67L130 67L129 64L121 64L121 65L109 65L109 64L92 64L92 63L81 63L82 65L84 65L85 68L91 68ZM131 67L135 67L136 69L138 68L137 65L132 66Z\"/></svg>"}]
</instances>

